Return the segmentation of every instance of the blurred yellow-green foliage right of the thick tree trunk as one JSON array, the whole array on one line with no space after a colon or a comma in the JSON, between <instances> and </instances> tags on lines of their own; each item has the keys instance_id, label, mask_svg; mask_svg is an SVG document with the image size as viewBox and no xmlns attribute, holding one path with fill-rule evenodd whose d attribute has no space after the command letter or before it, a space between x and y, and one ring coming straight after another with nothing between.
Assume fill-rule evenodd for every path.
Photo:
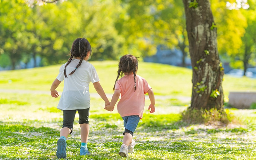
<instances>
[{"instance_id":1,"label":"blurred yellow-green foliage right of the thick tree trunk","mask_svg":"<svg viewBox=\"0 0 256 160\"><path fill-rule=\"evenodd\" d=\"M228 10L226 1L211 0L215 23L218 25L219 52L226 61L231 62L232 68L244 68L244 64L255 66L255 2L249 4L247 10Z\"/></svg>"}]
</instances>

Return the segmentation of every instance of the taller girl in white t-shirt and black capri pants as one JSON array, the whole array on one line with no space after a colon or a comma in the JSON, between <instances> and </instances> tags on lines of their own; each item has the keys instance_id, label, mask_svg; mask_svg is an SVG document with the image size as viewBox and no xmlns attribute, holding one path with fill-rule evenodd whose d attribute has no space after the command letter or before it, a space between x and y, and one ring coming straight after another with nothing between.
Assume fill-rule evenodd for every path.
<instances>
[{"instance_id":1,"label":"taller girl in white t-shirt and black capri pants","mask_svg":"<svg viewBox=\"0 0 256 160\"><path fill-rule=\"evenodd\" d=\"M55 90L61 81L64 82L64 89L60 97L58 109L63 110L63 126L60 130L60 139L57 142L57 157L66 158L66 139L73 132L73 123L76 111L79 114L79 124L81 128L81 148L80 155L89 155L87 139L89 135L89 110L90 94L89 84L93 83L95 90L105 101L105 106L110 102L103 91L99 77L92 64L88 63L92 48L85 38L77 38L70 50L68 62L60 67L60 73L53 81L51 95L54 98L59 96ZM69 73L67 75L67 73Z\"/></svg>"}]
</instances>

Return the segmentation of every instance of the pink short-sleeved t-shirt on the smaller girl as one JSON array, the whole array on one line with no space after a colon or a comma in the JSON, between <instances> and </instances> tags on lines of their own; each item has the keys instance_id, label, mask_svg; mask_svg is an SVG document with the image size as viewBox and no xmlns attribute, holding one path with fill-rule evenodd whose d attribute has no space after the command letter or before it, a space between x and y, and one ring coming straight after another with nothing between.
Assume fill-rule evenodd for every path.
<instances>
[{"instance_id":1,"label":"pink short-sleeved t-shirt on the smaller girl","mask_svg":"<svg viewBox=\"0 0 256 160\"><path fill-rule=\"evenodd\" d=\"M116 89L121 91L121 99L117 104L117 111L124 116L138 115L140 119L145 106L145 95L151 87L148 82L136 75L136 91L134 92L134 77L125 75L116 82Z\"/></svg>"}]
</instances>

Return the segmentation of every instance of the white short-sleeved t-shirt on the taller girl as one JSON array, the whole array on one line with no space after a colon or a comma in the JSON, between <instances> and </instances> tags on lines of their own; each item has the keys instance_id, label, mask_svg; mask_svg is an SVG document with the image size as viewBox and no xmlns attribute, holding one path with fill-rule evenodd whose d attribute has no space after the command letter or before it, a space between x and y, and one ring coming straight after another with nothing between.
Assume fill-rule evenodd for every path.
<instances>
[{"instance_id":1,"label":"white short-sleeved t-shirt on the taller girl","mask_svg":"<svg viewBox=\"0 0 256 160\"><path fill-rule=\"evenodd\" d=\"M80 60L73 59L66 68L66 74L72 72ZM99 82L99 76L96 69L89 62L83 60L82 64L76 69L73 75L65 78L65 64L60 67L60 73L57 76L59 81L64 81L64 89L57 106L60 110L74 110L90 108L90 82Z\"/></svg>"}]
</instances>

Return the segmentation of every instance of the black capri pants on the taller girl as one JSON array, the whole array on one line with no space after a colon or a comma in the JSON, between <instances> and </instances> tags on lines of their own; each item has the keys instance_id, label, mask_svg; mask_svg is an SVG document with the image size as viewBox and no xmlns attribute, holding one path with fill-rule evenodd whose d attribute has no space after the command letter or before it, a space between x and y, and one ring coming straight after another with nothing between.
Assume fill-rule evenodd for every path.
<instances>
[{"instance_id":1,"label":"black capri pants on the taller girl","mask_svg":"<svg viewBox=\"0 0 256 160\"><path fill-rule=\"evenodd\" d=\"M76 116L76 111L78 111L79 115L79 124L89 124L89 111L90 108L87 109L75 109L75 110L63 110L63 125L62 128L67 127L71 130L69 134L73 132L73 124Z\"/></svg>"}]
</instances>

